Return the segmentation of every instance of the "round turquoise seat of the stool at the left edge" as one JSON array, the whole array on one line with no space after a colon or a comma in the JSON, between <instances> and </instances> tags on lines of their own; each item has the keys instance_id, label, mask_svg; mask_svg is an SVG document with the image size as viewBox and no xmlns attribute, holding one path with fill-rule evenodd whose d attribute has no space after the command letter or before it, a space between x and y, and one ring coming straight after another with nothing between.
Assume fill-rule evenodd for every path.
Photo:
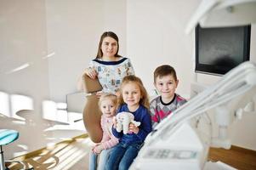
<instances>
[{"instance_id":1,"label":"round turquoise seat of the stool at the left edge","mask_svg":"<svg viewBox=\"0 0 256 170\"><path fill-rule=\"evenodd\" d=\"M12 143L19 138L19 133L15 130L0 129L0 145Z\"/></svg>"}]
</instances>

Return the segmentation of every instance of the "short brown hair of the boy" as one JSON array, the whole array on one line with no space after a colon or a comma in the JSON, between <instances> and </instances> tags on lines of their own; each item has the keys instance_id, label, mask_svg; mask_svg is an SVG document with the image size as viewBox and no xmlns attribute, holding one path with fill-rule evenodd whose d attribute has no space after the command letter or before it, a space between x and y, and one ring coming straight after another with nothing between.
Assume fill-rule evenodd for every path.
<instances>
[{"instance_id":1,"label":"short brown hair of the boy","mask_svg":"<svg viewBox=\"0 0 256 170\"><path fill-rule=\"evenodd\" d=\"M165 77L171 75L174 77L174 80L177 81L177 75L174 67L171 65L161 65L156 68L154 71L154 82L156 83L156 78L157 77Z\"/></svg>"}]
</instances>

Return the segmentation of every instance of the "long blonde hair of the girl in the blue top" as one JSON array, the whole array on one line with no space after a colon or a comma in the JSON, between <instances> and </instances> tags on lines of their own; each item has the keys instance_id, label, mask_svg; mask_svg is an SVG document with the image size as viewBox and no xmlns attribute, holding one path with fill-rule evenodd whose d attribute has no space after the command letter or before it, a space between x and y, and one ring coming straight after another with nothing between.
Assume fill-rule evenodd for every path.
<instances>
[{"instance_id":1,"label":"long blonde hair of the girl in the blue top","mask_svg":"<svg viewBox=\"0 0 256 170\"><path fill-rule=\"evenodd\" d=\"M143 83L141 82L139 77L135 77L134 75L126 76L122 79L122 84L120 88L120 97L118 98L118 105L124 104L123 97L122 97L122 88L128 84L129 82L134 82L139 86L141 98L139 100L140 105L144 105L147 109L150 107L149 97L146 93L145 87L143 86Z\"/></svg>"}]
</instances>

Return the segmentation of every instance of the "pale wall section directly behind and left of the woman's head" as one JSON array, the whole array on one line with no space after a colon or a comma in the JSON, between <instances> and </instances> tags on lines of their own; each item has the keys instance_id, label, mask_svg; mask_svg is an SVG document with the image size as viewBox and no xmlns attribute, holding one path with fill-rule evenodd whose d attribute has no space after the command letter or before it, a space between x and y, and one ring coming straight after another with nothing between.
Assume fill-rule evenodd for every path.
<instances>
[{"instance_id":1,"label":"pale wall section directly behind and left of the woman's head","mask_svg":"<svg viewBox=\"0 0 256 170\"><path fill-rule=\"evenodd\" d=\"M65 101L77 91L76 83L88 61L94 59L100 36L114 31L120 54L126 52L126 1L47 0L47 42L51 99Z\"/></svg>"}]
</instances>

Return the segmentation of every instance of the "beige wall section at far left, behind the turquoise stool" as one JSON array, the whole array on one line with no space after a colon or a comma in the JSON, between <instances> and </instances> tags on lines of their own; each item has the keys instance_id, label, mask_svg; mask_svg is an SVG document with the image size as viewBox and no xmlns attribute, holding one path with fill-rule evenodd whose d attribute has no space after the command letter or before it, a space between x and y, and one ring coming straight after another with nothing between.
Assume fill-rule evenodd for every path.
<instances>
[{"instance_id":1,"label":"beige wall section at far left, behind the turquoise stool","mask_svg":"<svg viewBox=\"0 0 256 170\"><path fill-rule=\"evenodd\" d=\"M14 116L27 109L42 117L42 100L49 96L44 1L1 0L0 11L0 113ZM2 114L0 128L20 132L15 143L4 147L7 158L45 145L42 119L31 125Z\"/></svg>"}]
</instances>

